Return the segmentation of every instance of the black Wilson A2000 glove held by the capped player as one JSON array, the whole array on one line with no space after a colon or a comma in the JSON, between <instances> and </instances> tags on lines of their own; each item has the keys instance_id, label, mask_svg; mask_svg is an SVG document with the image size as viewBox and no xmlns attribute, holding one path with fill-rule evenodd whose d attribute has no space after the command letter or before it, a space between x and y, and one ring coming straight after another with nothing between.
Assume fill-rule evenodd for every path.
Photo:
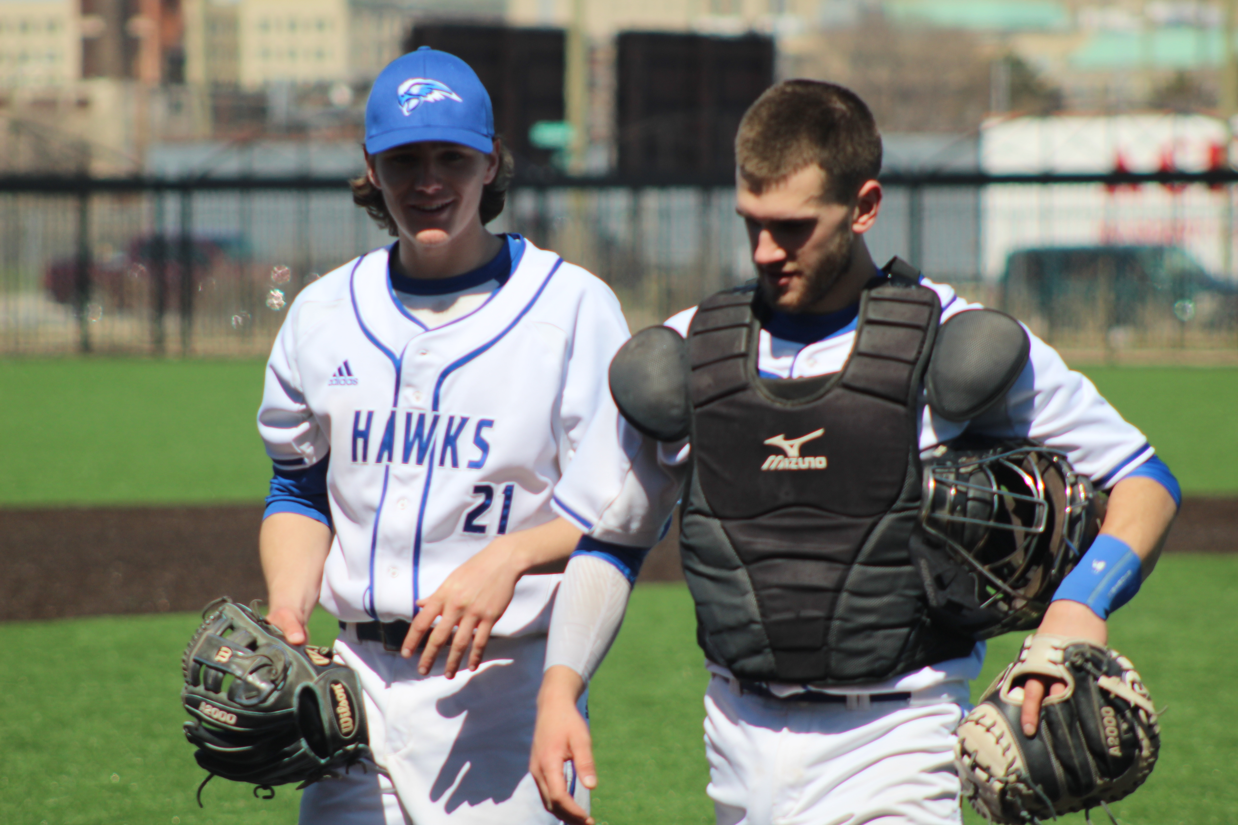
<instances>
[{"instance_id":1,"label":"black Wilson A2000 glove held by the capped player","mask_svg":"<svg viewBox=\"0 0 1238 825\"><path fill-rule=\"evenodd\" d=\"M347 769L366 752L357 674L331 648L293 646L256 611L228 597L207 605L182 660L184 736L198 764L274 795ZM202 787L198 804L202 804Z\"/></svg>"}]
</instances>

